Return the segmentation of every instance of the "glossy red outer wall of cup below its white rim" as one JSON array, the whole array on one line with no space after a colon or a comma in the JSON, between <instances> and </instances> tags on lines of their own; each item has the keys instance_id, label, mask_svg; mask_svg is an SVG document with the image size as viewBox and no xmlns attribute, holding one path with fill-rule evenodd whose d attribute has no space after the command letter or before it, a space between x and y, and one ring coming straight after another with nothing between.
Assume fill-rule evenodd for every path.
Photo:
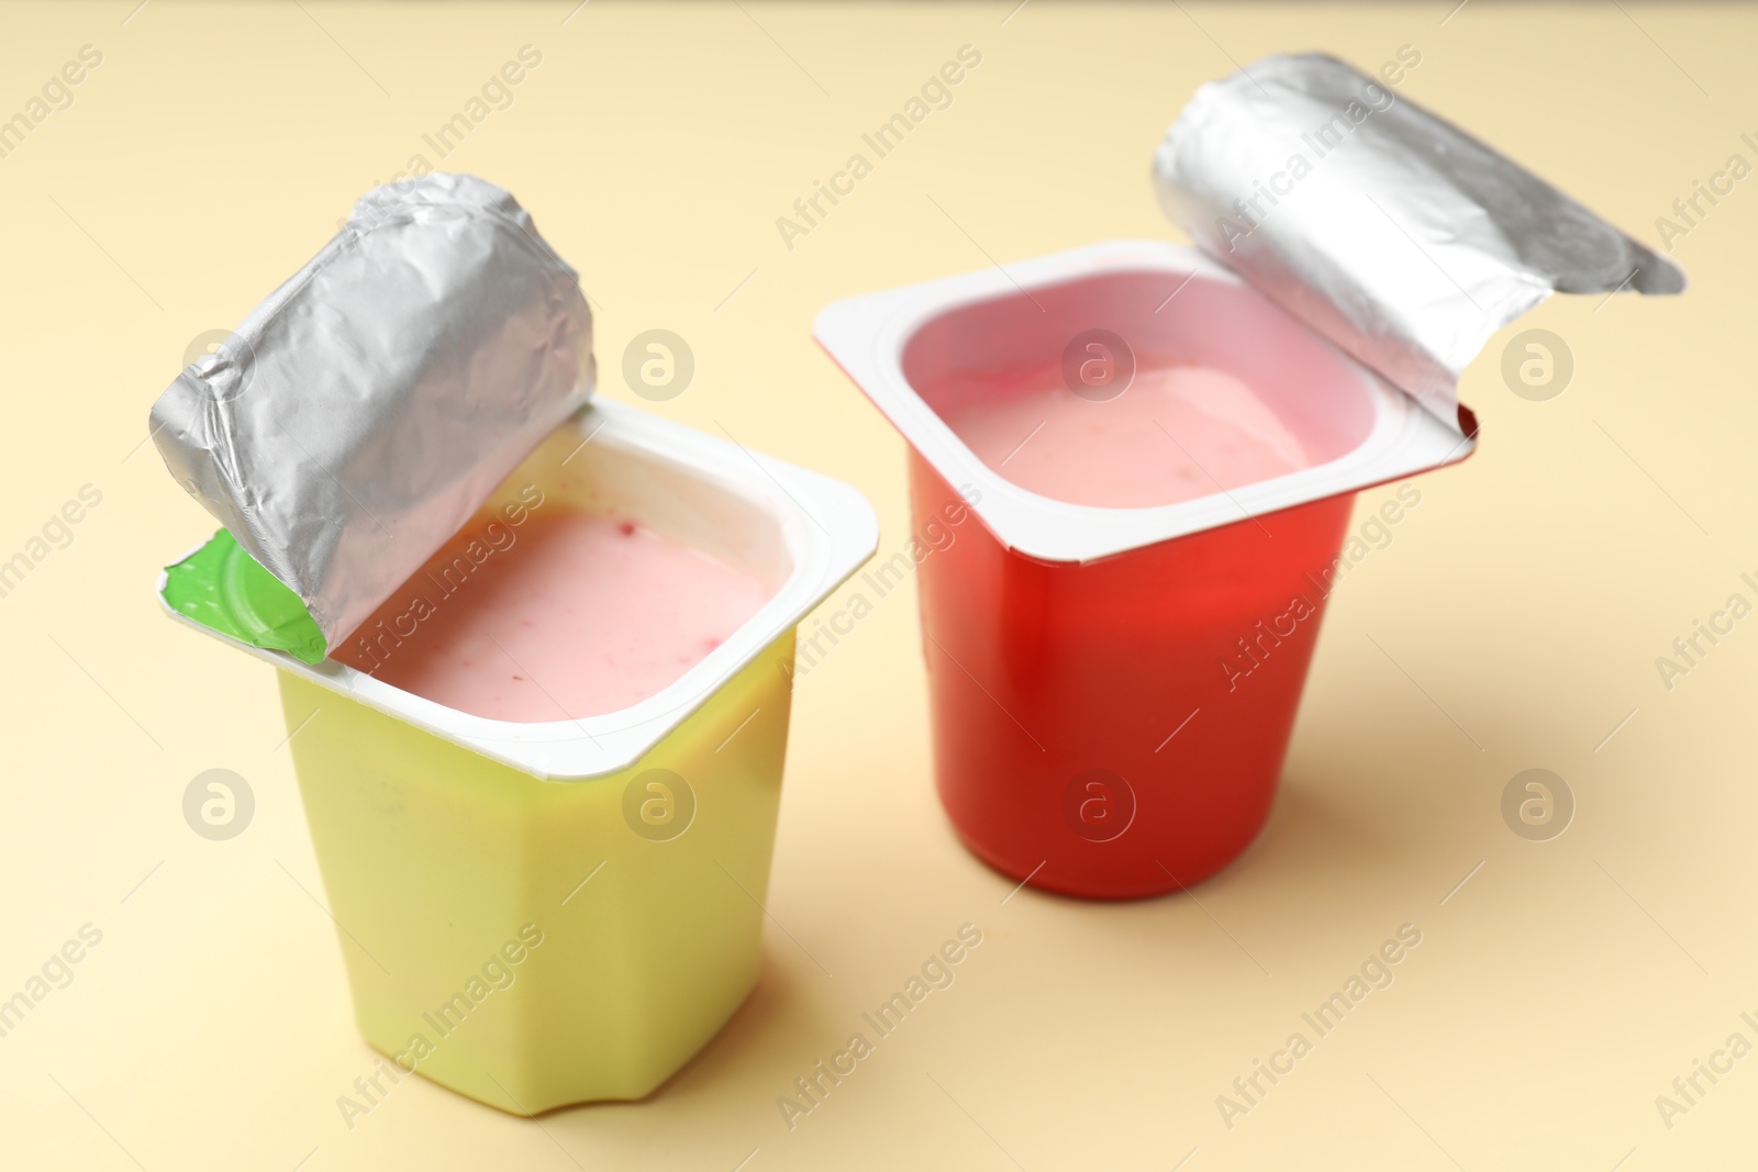
<instances>
[{"instance_id":1,"label":"glossy red outer wall of cup below its white rim","mask_svg":"<svg viewBox=\"0 0 1758 1172\"><path fill-rule=\"evenodd\" d=\"M919 569L935 775L963 842L1127 900L1213 875L1275 798L1354 494L1090 564L981 525ZM911 453L918 529L958 494Z\"/></svg>"}]
</instances>

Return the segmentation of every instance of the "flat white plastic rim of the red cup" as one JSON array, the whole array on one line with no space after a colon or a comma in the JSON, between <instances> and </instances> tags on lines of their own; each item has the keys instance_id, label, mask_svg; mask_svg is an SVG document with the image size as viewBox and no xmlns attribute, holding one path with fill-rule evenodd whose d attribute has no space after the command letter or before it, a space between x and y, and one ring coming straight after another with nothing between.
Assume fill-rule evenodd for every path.
<instances>
[{"instance_id":1,"label":"flat white plastic rim of the red cup","mask_svg":"<svg viewBox=\"0 0 1758 1172\"><path fill-rule=\"evenodd\" d=\"M904 376L911 337L941 315L977 302L1120 272L1197 274L1245 283L1194 248L1162 241L1109 241L962 276L851 297L826 306L817 343L935 467L974 487L972 510L1009 548L1048 562L1090 562L1204 529L1399 480L1468 457L1475 441L1447 427L1292 316L1292 329L1329 350L1362 383L1373 406L1366 438L1345 455L1232 490L1150 508L1095 508L1039 496L999 474L953 432ZM1275 307L1266 299L1266 304ZM1283 313L1276 307L1276 313Z\"/></svg>"}]
</instances>

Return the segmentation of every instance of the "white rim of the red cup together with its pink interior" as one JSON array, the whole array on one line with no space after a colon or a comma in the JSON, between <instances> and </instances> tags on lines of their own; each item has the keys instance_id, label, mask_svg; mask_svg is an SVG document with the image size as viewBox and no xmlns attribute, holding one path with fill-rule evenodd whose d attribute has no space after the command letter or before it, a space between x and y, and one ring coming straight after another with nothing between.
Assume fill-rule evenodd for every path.
<instances>
[{"instance_id":1,"label":"white rim of the red cup together with its pink interior","mask_svg":"<svg viewBox=\"0 0 1758 1172\"><path fill-rule=\"evenodd\" d=\"M983 525L1042 562L1250 522L1475 450L1475 427L1164 241L847 297L812 332Z\"/></svg>"}]
</instances>

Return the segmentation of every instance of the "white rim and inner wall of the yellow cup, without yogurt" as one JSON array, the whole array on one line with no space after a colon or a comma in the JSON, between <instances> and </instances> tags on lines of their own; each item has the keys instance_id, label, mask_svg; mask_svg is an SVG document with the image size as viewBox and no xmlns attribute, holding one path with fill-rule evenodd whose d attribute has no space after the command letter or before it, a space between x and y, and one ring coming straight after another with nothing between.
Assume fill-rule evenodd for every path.
<instances>
[{"instance_id":1,"label":"white rim and inner wall of the yellow cup, without yogurt","mask_svg":"<svg viewBox=\"0 0 1758 1172\"><path fill-rule=\"evenodd\" d=\"M527 490L543 496L538 513L612 513L708 553L754 578L765 601L698 662L679 664L680 675L647 699L603 715L540 722L471 715L336 657L311 664L234 638L167 599L169 569L158 578L158 601L178 622L290 676L541 780L585 782L633 766L752 662L774 661L775 648L786 648L791 666L793 627L879 543L877 517L853 487L614 401L594 401L561 423L464 531L510 520L505 510L513 504L529 510Z\"/></svg>"}]
</instances>

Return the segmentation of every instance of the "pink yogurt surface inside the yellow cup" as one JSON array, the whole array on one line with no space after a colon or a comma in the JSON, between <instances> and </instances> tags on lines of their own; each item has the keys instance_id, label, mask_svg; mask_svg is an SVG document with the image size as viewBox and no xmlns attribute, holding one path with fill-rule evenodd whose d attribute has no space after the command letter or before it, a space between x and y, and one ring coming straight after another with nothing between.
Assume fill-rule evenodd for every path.
<instances>
[{"instance_id":1,"label":"pink yogurt surface inside the yellow cup","mask_svg":"<svg viewBox=\"0 0 1758 1172\"><path fill-rule=\"evenodd\" d=\"M471 715L568 720L647 699L770 597L635 522L550 508L466 527L334 659Z\"/></svg>"}]
</instances>

